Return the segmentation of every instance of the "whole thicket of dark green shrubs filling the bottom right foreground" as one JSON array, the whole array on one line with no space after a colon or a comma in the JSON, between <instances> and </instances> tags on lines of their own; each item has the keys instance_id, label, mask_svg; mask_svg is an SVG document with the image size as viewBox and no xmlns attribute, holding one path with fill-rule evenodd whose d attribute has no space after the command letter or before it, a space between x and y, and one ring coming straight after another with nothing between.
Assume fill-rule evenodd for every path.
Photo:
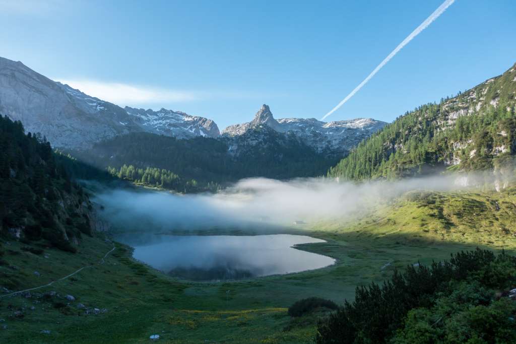
<instances>
[{"instance_id":1,"label":"whole thicket of dark green shrubs filling the bottom right foreground","mask_svg":"<svg viewBox=\"0 0 516 344\"><path fill-rule=\"evenodd\" d=\"M318 326L318 343L432 343L457 334L457 323L489 338L515 338L516 327L505 327L516 306L496 302L495 290L516 286L516 258L479 250L452 255L449 261L430 267L409 266L383 285L359 287L354 302L332 314ZM474 307L474 308L472 308ZM483 322L488 315L506 317ZM444 319L446 318L446 319ZM453 319L453 320L450 320ZM454 327L455 326L455 327ZM439 330L439 331L437 331ZM501 334L503 332L503 334ZM417 335L414 335L417 333ZM496 334L497 333L497 334ZM491 337L489 337L491 336ZM413 341L416 340L418 341ZM503 341L498 341L503 342Z\"/></svg>"}]
</instances>

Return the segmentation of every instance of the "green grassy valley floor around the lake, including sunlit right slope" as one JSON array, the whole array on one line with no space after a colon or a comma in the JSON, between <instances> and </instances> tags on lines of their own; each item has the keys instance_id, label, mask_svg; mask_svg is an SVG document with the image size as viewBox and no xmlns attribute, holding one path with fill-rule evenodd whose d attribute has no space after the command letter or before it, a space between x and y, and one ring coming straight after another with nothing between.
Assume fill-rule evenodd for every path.
<instances>
[{"instance_id":1,"label":"green grassy valley floor around the lake, including sunlit right slope","mask_svg":"<svg viewBox=\"0 0 516 344\"><path fill-rule=\"evenodd\" d=\"M413 191L354 219L297 228L327 240L300 249L332 256L337 259L334 266L231 283L174 280L137 263L130 249L117 243L99 265L113 245L101 237L84 239L76 254L44 248L36 255L21 250L26 244L3 240L0 285L9 289L45 284L81 266L92 267L36 291L57 291L61 297L37 299L33 293L31 298L0 299L0 319L5 320L0 342L138 343L159 334L160 342L169 343L309 343L317 317L324 314L291 320L286 311L295 301L318 296L342 303L353 299L357 285L381 282L395 268L446 259L460 250L481 247L514 254L515 223L516 189ZM66 294L77 300L67 301L62 298ZM66 303L70 305L62 307ZM107 312L85 315L78 303ZM19 309L23 318L14 316Z\"/></svg>"}]
</instances>

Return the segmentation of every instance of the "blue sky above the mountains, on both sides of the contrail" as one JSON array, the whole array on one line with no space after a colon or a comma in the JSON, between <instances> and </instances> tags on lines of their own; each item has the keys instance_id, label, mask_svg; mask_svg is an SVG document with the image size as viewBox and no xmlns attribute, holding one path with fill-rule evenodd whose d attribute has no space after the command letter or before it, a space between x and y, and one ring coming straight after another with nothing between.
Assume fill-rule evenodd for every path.
<instances>
[{"instance_id":1,"label":"blue sky above the mountains, on both sides of the contrail","mask_svg":"<svg viewBox=\"0 0 516 344\"><path fill-rule=\"evenodd\" d=\"M0 0L0 56L118 105L321 118L442 1ZM516 2L457 0L327 121L392 121L516 62Z\"/></svg>"}]
</instances>

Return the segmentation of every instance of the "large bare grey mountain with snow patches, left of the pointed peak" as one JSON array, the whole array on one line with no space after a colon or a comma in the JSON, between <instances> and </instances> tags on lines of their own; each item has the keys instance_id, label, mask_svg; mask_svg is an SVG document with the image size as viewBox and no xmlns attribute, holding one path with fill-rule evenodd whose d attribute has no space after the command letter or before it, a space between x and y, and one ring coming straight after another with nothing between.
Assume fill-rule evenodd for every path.
<instances>
[{"instance_id":1,"label":"large bare grey mountain with snow patches, left of the pointed peak","mask_svg":"<svg viewBox=\"0 0 516 344\"><path fill-rule=\"evenodd\" d=\"M90 148L94 142L135 132L189 138L217 137L217 125L182 112L121 108L53 81L21 62L0 58L0 113L43 133L53 146Z\"/></svg>"}]
</instances>

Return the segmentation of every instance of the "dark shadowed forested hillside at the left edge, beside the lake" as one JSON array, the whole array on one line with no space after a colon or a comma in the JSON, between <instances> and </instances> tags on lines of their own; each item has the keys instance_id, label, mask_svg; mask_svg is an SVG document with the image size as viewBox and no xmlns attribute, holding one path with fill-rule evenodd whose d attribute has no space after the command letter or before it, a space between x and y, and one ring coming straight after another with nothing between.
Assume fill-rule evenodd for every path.
<instances>
[{"instance_id":1,"label":"dark shadowed forested hillside at the left edge, beside the lake","mask_svg":"<svg viewBox=\"0 0 516 344\"><path fill-rule=\"evenodd\" d=\"M0 235L48 242L75 252L95 227L92 204L69 168L40 134L0 116Z\"/></svg>"}]
</instances>

